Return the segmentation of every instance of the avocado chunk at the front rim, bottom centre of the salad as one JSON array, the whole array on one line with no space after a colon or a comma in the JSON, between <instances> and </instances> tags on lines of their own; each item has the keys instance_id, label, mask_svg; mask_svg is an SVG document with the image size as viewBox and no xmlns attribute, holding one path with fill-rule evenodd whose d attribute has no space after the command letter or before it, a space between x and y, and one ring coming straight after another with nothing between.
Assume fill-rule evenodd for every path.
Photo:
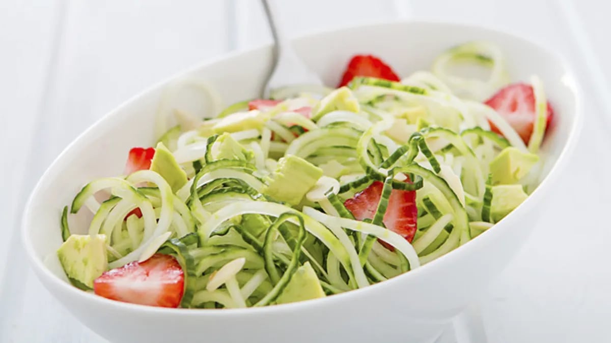
<instances>
[{"instance_id":1,"label":"avocado chunk at the front rim, bottom centre of the salad","mask_svg":"<svg viewBox=\"0 0 611 343\"><path fill-rule=\"evenodd\" d=\"M293 274L291 281L288 281L287 287L280 293L276 303L295 303L297 301L323 298L324 296L323 287L320 286L316 272L314 272L310 262L305 262Z\"/></svg>"}]
</instances>

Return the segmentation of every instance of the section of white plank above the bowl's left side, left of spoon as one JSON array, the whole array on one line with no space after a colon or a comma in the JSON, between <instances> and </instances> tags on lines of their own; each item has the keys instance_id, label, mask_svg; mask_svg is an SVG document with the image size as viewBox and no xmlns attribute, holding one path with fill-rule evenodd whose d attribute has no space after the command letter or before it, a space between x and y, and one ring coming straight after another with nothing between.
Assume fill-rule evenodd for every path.
<instances>
[{"instance_id":1,"label":"section of white plank above the bowl's left side, left of spoon","mask_svg":"<svg viewBox=\"0 0 611 343\"><path fill-rule=\"evenodd\" d=\"M48 137L44 162L144 88L226 51L225 15L212 1L72 2L49 105L63 129Z\"/></svg>"}]
</instances>

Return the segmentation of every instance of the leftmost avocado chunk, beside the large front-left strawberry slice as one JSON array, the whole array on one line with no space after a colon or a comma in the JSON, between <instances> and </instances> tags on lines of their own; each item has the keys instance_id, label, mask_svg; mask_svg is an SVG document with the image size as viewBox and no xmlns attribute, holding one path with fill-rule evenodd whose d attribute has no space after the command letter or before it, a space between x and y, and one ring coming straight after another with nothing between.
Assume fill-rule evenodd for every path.
<instances>
[{"instance_id":1,"label":"leftmost avocado chunk, beside the large front-left strawberry slice","mask_svg":"<svg viewBox=\"0 0 611 343\"><path fill-rule=\"evenodd\" d=\"M93 280L108 269L106 235L73 234L57 250L66 275L89 288Z\"/></svg>"}]
</instances>

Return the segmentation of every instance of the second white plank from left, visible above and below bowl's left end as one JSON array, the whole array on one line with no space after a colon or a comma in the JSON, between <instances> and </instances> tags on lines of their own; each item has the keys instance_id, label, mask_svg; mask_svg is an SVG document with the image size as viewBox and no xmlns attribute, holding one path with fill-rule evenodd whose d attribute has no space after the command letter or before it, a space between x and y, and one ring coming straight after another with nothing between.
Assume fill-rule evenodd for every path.
<instances>
[{"instance_id":1,"label":"second white plank from left, visible above and below bowl's left end","mask_svg":"<svg viewBox=\"0 0 611 343\"><path fill-rule=\"evenodd\" d=\"M56 63L49 67L49 92L40 110L29 114L37 125L26 126L36 137L35 154L27 159L28 179L37 179L67 143L120 102L228 47L225 2L66 4ZM24 184L21 193L32 186ZM7 265L0 298L0 341L100 342L27 272L19 238L13 237L15 262Z\"/></svg>"}]
</instances>

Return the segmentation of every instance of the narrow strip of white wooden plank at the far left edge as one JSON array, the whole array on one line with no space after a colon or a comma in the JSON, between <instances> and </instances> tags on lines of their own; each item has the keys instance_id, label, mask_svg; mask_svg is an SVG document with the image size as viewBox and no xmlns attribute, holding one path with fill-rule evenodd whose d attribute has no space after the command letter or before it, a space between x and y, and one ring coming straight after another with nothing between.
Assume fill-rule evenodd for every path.
<instances>
[{"instance_id":1,"label":"narrow strip of white wooden plank at the far left edge","mask_svg":"<svg viewBox=\"0 0 611 343\"><path fill-rule=\"evenodd\" d=\"M0 44L4 46L0 63L0 143L3 167L0 168L2 198L0 218L0 259L5 261L10 237L18 215L18 189L26 170L26 154L31 143L34 114L40 109L53 54L56 1L23 3L0 2ZM18 34L16 34L18 33ZM32 181L28 181L32 182ZM7 232L11 231L11 232ZM6 264L0 264L0 294Z\"/></svg>"}]
</instances>

